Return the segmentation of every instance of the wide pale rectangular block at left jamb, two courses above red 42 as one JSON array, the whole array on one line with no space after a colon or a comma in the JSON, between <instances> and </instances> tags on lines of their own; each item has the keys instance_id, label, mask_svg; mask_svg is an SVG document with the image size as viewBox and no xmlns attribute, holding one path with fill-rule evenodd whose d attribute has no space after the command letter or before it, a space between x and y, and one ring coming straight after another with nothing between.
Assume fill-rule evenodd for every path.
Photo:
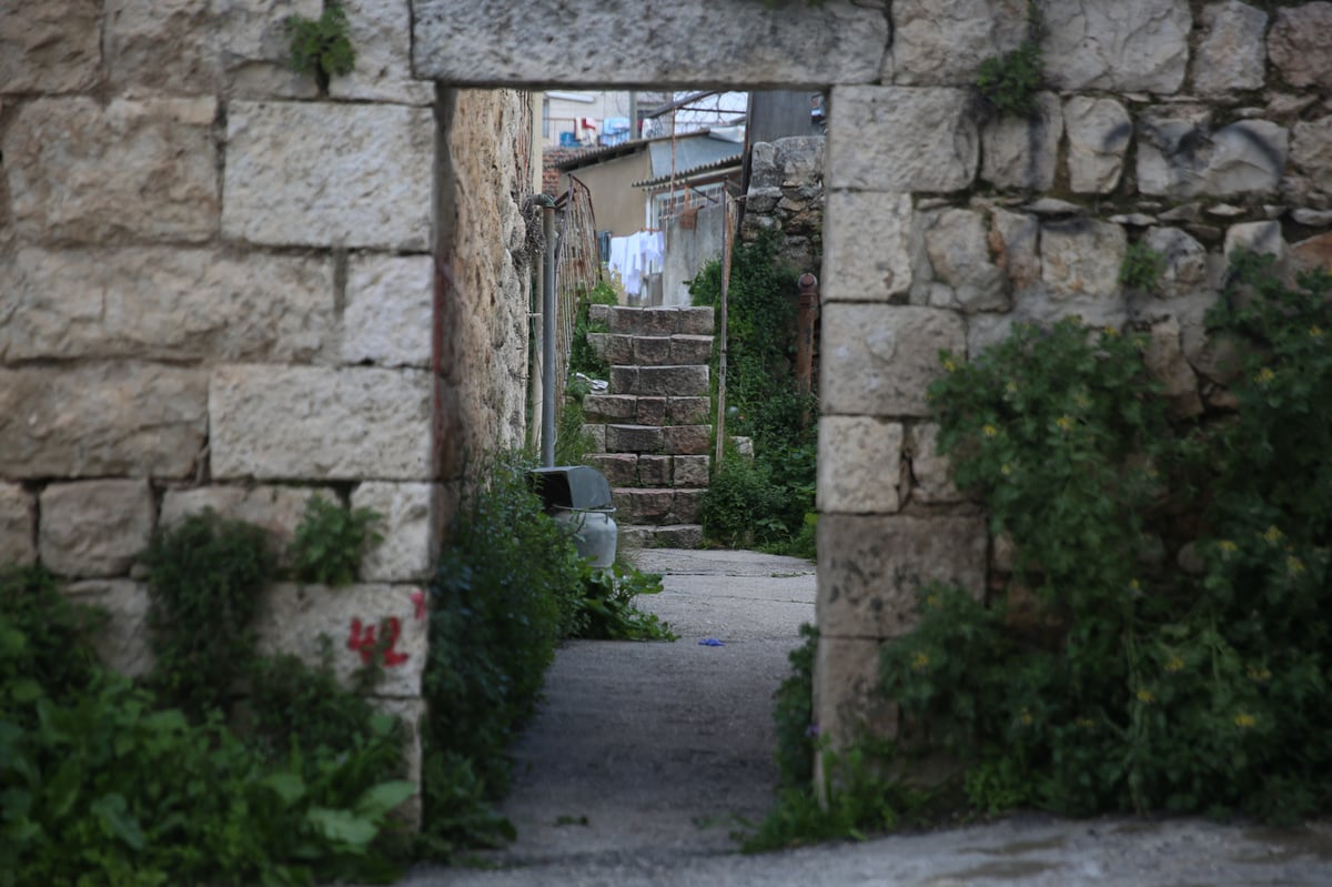
<instances>
[{"instance_id":1,"label":"wide pale rectangular block at left jamb, two courses above red 42","mask_svg":"<svg viewBox=\"0 0 1332 887\"><path fill-rule=\"evenodd\" d=\"M213 477L425 481L430 373L220 366L208 393Z\"/></svg>"}]
</instances>

